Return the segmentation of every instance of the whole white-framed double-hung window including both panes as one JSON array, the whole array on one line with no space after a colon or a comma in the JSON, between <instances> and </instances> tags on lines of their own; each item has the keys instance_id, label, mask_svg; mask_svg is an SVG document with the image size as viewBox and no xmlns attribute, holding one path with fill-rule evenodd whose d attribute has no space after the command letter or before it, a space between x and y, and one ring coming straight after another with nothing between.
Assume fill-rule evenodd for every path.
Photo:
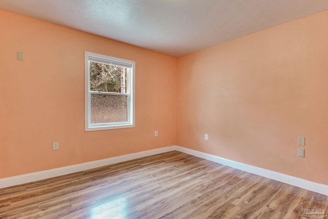
<instances>
[{"instance_id":1,"label":"whole white-framed double-hung window including both panes","mask_svg":"<svg viewBox=\"0 0 328 219\"><path fill-rule=\"evenodd\" d=\"M85 62L85 130L135 127L135 62L92 52Z\"/></svg>"}]
</instances>

